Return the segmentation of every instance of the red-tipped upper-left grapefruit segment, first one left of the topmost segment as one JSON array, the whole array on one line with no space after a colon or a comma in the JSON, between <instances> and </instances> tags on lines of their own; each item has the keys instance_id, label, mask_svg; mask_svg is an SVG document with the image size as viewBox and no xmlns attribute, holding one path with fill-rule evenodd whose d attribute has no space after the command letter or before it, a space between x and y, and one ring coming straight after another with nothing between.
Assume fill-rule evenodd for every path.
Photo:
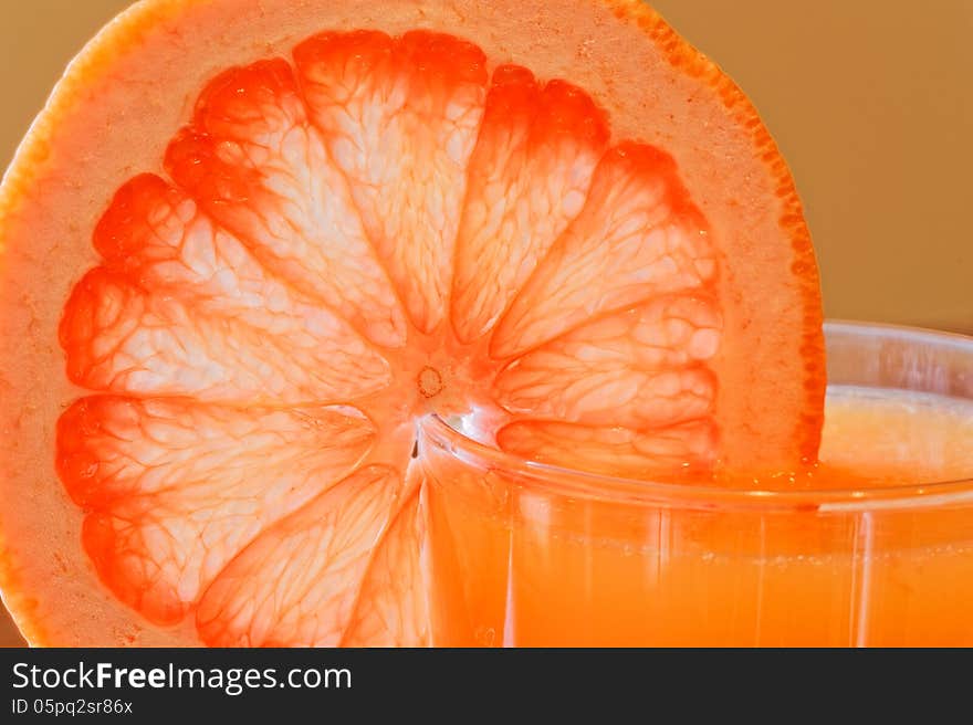
<instances>
[{"instance_id":1,"label":"red-tipped upper-left grapefruit segment, first one left of the topmost segment","mask_svg":"<svg viewBox=\"0 0 973 725\"><path fill-rule=\"evenodd\" d=\"M405 343L398 300L347 182L307 120L286 61L261 61L215 78L192 124L169 145L166 168L269 270L368 339L387 347Z\"/></svg>"}]
</instances>

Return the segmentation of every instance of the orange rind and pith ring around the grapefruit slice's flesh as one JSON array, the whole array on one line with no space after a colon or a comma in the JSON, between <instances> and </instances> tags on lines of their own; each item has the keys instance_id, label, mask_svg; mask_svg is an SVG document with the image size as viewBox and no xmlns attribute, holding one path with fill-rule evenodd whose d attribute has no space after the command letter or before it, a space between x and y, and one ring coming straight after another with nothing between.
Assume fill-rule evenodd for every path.
<instances>
[{"instance_id":1,"label":"orange rind and pith ring around the grapefruit slice's flesh","mask_svg":"<svg viewBox=\"0 0 973 725\"><path fill-rule=\"evenodd\" d=\"M802 381L783 395L762 392L760 376L750 374L722 381L718 407L737 416L728 425L740 438L736 448L752 450L747 441L758 439L760 421L768 416L822 410L817 273L786 166L742 92L647 6L458 0L446 8L389 0L378 12L370 0L142 2L72 63L0 188L0 588L32 643L198 641L191 623L157 629L114 600L77 546L83 513L57 483L52 455L54 421L81 395L64 377L60 313L71 286L96 261L91 233L107 200L135 174L163 172L165 145L209 78L231 65L289 56L296 42L322 29L351 27L389 33L435 28L465 36L495 62L586 88L607 109L616 138L671 153L716 233L739 232L721 240L728 256L777 271L755 281L762 290L751 305L739 276L745 270L730 264L721 277L740 295L724 319L734 348L721 356L747 360L725 367ZM711 132L700 139L691 129L703 125ZM753 325L757 318L792 324L768 329ZM781 350L801 353L791 356L796 367ZM803 359L812 361L809 369ZM740 396L747 404L739 404ZM797 423L799 448L809 456L820 413L804 414L810 418ZM30 593L52 587L56 598Z\"/></svg>"}]
</instances>

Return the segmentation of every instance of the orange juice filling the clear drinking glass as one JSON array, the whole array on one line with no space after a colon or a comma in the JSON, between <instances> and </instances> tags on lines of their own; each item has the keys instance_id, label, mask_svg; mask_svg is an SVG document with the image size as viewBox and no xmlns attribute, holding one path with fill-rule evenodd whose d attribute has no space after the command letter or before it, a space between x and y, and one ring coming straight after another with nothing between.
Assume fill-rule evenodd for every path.
<instances>
[{"instance_id":1,"label":"orange juice filling the clear drinking glass","mask_svg":"<svg viewBox=\"0 0 973 725\"><path fill-rule=\"evenodd\" d=\"M795 488L973 473L973 401L836 386L826 414ZM973 494L690 509L558 496L446 454L427 475L441 644L973 644Z\"/></svg>"}]
</instances>

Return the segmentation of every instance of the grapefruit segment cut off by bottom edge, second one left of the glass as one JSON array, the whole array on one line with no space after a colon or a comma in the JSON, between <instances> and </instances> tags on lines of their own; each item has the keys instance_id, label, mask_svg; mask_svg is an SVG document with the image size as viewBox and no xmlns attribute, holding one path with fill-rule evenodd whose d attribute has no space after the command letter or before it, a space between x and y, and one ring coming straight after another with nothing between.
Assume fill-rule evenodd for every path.
<instances>
[{"instance_id":1,"label":"grapefruit segment cut off by bottom edge, second one left of the glass","mask_svg":"<svg viewBox=\"0 0 973 725\"><path fill-rule=\"evenodd\" d=\"M367 466L278 522L207 589L197 610L202 641L339 644L372 553L401 494L397 471Z\"/></svg>"}]
</instances>

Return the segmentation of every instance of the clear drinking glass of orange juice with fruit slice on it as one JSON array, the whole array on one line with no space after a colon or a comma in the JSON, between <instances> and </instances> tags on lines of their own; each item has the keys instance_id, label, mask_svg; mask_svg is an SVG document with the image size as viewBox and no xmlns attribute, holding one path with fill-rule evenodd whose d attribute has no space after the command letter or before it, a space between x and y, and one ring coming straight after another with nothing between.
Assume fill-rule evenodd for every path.
<instances>
[{"instance_id":1,"label":"clear drinking glass of orange juice with fruit slice on it","mask_svg":"<svg viewBox=\"0 0 973 725\"><path fill-rule=\"evenodd\" d=\"M973 401L973 338L855 323L825 334L829 400L861 386ZM437 644L973 644L969 469L737 491L531 463L435 417L419 444ZM937 445L955 458L973 440Z\"/></svg>"}]
</instances>

